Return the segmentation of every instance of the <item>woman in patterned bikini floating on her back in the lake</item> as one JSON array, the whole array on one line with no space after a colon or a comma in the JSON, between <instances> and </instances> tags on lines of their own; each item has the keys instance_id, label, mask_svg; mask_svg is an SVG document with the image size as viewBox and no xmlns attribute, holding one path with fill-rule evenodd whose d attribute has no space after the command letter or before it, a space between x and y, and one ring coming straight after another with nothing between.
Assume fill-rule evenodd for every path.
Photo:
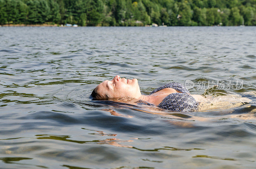
<instances>
[{"instance_id":1,"label":"woman in patterned bikini floating on her back in the lake","mask_svg":"<svg viewBox=\"0 0 256 169\"><path fill-rule=\"evenodd\" d=\"M97 100L135 98L145 101L150 105L174 112L203 111L204 109L209 110L213 107L218 108L218 105L230 108L227 107L227 103L231 107L237 107L241 106L241 104L237 105L236 103L252 101L239 95L230 95L222 98L219 96L217 97L218 99L213 97L205 98L201 95L190 94L184 85L176 82L162 85L149 95L142 95L137 79L120 78L118 75L112 80L105 80L100 83L93 90L91 97ZM226 104L224 99L228 100Z\"/></svg>"}]
</instances>

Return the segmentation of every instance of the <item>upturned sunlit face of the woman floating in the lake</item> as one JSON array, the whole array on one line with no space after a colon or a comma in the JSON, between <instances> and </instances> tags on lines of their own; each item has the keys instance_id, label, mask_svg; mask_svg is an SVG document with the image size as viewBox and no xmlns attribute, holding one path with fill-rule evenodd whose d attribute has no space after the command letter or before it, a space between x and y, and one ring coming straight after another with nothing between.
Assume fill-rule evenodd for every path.
<instances>
[{"instance_id":1,"label":"upturned sunlit face of the woman floating in the lake","mask_svg":"<svg viewBox=\"0 0 256 169\"><path fill-rule=\"evenodd\" d=\"M100 95L107 95L109 99L122 97L138 99L141 96L137 79L120 78L118 75L113 80L105 80L96 88Z\"/></svg>"}]
</instances>

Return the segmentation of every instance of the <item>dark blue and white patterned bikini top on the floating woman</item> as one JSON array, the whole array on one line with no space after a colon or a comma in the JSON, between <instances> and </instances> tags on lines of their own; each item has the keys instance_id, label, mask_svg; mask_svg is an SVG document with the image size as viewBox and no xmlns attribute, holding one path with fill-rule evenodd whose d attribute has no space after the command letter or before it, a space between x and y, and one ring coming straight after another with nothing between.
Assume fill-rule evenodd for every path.
<instances>
[{"instance_id":1,"label":"dark blue and white patterned bikini top on the floating woman","mask_svg":"<svg viewBox=\"0 0 256 169\"><path fill-rule=\"evenodd\" d=\"M162 85L157 89L153 90L149 95L158 92L165 88L172 88L181 93L171 93L157 106L166 110L171 110L174 112L190 112L196 111L198 103L191 95L189 95L188 89L177 82L168 83Z\"/></svg>"}]
</instances>

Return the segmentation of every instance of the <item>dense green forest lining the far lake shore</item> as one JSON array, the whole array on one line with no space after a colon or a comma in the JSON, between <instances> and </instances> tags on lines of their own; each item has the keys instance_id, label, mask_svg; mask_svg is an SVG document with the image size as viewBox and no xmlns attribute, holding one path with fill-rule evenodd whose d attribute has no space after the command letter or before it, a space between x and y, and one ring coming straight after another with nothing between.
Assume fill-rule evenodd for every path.
<instances>
[{"instance_id":1,"label":"dense green forest lining the far lake shore","mask_svg":"<svg viewBox=\"0 0 256 169\"><path fill-rule=\"evenodd\" d=\"M256 25L256 0L0 0L0 24Z\"/></svg>"}]
</instances>

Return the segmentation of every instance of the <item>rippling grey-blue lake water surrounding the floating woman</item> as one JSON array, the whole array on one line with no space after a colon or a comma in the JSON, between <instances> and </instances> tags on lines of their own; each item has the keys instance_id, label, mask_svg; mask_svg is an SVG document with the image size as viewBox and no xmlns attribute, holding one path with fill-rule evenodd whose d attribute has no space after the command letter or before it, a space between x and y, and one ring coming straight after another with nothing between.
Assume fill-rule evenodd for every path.
<instances>
[{"instance_id":1,"label":"rippling grey-blue lake water surrounding the floating woman","mask_svg":"<svg viewBox=\"0 0 256 169\"><path fill-rule=\"evenodd\" d=\"M0 168L254 168L255 39L249 26L0 27ZM91 102L116 75L142 94L187 81L251 101L187 113Z\"/></svg>"}]
</instances>

